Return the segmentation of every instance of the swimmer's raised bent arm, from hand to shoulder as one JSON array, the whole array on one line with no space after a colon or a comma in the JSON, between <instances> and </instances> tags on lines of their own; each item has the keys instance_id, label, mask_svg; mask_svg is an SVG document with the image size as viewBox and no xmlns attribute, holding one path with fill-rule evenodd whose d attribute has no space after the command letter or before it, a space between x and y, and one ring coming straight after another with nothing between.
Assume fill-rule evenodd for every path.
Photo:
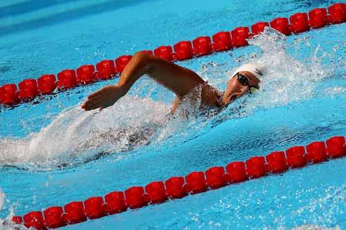
<instances>
[{"instance_id":1,"label":"swimmer's raised bent arm, from hand to shoulder","mask_svg":"<svg viewBox=\"0 0 346 230\"><path fill-rule=\"evenodd\" d=\"M206 84L197 73L154 55L138 52L122 71L118 84L105 86L89 95L82 108L90 111L95 108L106 108L113 105L128 92L140 76L145 74L172 90L179 99L197 86L202 85L202 100L206 101L207 104L216 104L215 96L217 91Z\"/></svg>"}]
</instances>

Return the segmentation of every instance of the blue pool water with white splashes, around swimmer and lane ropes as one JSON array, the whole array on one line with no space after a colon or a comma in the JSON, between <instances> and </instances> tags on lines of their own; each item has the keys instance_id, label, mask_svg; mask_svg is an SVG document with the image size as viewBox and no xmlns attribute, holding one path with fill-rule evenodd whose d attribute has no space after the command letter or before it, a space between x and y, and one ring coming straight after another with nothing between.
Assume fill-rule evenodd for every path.
<instances>
[{"instance_id":1,"label":"blue pool water with white splashes, around swimmer and lane ropes","mask_svg":"<svg viewBox=\"0 0 346 230\"><path fill-rule=\"evenodd\" d=\"M0 85L336 2L8 1ZM178 111L188 118L167 116L174 95L147 77L101 113L80 104L117 79L1 108L0 218L345 135L345 28L266 30L246 48L179 62L220 89L243 62L271 66L259 92L210 118L188 104ZM345 166L344 157L65 229L345 229Z\"/></svg>"}]
</instances>

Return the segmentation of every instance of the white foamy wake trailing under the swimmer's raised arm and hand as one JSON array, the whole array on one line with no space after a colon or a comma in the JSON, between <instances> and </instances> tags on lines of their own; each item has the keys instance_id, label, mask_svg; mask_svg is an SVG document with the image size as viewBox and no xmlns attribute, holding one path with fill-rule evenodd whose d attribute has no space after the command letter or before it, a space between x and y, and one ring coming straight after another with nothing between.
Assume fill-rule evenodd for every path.
<instances>
[{"instance_id":1,"label":"white foamy wake trailing under the swimmer's raised arm and hand","mask_svg":"<svg viewBox=\"0 0 346 230\"><path fill-rule=\"evenodd\" d=\"M98 153L143 146L156 126L165 122L169 108L152 99L129 96L100 113L75 106L26 139L0 140L0 164L69 165Z\"/></svg>"}]
</instances>

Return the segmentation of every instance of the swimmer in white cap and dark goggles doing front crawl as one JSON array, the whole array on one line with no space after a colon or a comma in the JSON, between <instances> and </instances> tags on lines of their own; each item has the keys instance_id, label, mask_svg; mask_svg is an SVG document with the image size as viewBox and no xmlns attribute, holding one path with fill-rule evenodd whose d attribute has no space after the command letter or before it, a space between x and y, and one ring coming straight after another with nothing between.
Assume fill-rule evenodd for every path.
<instances>
[{"instance_id":1,"label":"swimmer in white cap and dark goggles doing front crawl","mask_svg":"<svg viewBox=\"0 0 346 230\"><path fill-rule=\"evenodd\" d=\"M221 92L188 68L183 68L154 55L137 52L122 71L118 84L105 86L92 93L82 108L85 111L91 111L96 108L102 110L112 106L118 99L126 95L131 86L143 75L148 75L175 93L176 99L171 113L176 111L183 97L198 87L201 89L201 106L222 108L242 95L253 93L259 89L260 78L263 73L263 66L244 64L235 70L227 82L226 90Z\"/></svg>"}]
</instances>

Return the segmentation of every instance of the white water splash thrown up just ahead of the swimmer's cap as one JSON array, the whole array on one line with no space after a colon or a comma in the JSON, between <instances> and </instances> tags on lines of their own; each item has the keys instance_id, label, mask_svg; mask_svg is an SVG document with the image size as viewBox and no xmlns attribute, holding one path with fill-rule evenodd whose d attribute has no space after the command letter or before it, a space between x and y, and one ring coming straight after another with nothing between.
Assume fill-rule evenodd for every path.
<instances>
[{"instance_id":1,"label":"white water splash thrown up just ahead of the swimmer's cap","mask_svg":"<svg viewBox=\"0 0 346 230\"><path fill-rule=\"evenodd\" d=\"M291 57L287 52L286 37L272 28L266 27L264 33L250 39L248 43L262 51L261 57L251 61L266 66L267 70L261 82L262 89L251 100L250 106L271 108L309 99L316 88L316 82L333 73L331 68L322 66L316 52L304 62Z\"/></svg>"}]
</instances>

